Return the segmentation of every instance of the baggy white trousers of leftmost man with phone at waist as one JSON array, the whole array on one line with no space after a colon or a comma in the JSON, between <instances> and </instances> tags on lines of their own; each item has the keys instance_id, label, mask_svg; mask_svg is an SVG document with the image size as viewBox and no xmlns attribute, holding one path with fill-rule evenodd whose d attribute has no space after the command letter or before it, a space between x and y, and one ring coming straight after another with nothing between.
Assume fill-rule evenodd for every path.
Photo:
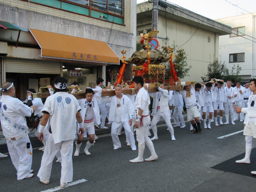
<instances>
[{"instance_id":1,"label":"baggy white trousers of leftmost man with phone at waist","mask_svg":"<svg viewBox=\"0 0 256 192\"><path fill-rule=\"evenodd\" d=\"M17 170L17 180L22 180L28 176L32 165L32 146L27 148L27 143L30 143L28 134L19 140L6 140L8 151L12 159L12 164ZM31 155L30 155L31 152ZM2 164L4 166L4 164Z\"/></svg>"}]
</instances>

